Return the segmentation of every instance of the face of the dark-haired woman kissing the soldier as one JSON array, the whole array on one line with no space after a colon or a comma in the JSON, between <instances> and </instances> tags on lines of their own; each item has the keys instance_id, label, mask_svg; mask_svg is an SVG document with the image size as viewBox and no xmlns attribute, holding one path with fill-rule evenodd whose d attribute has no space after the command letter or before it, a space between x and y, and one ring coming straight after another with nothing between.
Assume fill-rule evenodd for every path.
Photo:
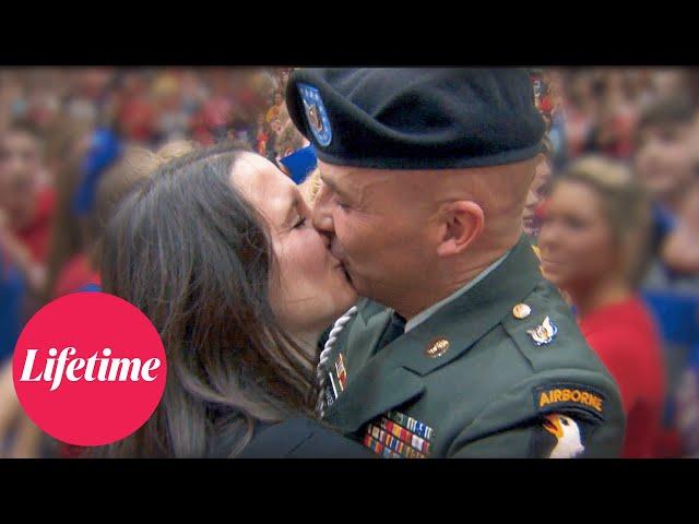
<instances>
[{"instance_id":1,"label":"face of the dark-haired woman kissing the soldier","mask_svg":"<svg viewBox=\"0 0 699 524\"><path fill-rule=\"evenodd\" d=\"M232 175L235 188L268 222L279 273L270 300L292 334L325 329L357 300L329 239L311 225L310 210L296 184L271 162L244 153Z\"/></svg>"}]
</instances>

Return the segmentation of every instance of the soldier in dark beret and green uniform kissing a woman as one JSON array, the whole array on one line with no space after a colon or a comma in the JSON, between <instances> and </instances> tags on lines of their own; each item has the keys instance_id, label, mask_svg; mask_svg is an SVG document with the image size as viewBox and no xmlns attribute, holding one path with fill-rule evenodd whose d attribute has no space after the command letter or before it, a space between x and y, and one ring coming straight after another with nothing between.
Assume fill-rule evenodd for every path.
<instances>
[{"instance_id":1,"label":"soldier in dark beret and green uniform kissing a woman","mask_svg":"<svg viewBox=\"0 0 699 524\"><path fill-rule=\"evenodd\" d=\"M286 96L313 225L366 297L321 353L324 420L390 457L617 456L617 385L522 233L526 72L303 69Z\"/></svg>"}]
</instances>

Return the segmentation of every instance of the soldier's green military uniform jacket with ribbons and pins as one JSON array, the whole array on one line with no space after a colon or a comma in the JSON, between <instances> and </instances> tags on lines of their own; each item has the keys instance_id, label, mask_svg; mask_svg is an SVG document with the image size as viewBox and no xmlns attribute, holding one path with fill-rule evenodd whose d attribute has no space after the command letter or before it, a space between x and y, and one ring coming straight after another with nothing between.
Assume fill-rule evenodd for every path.
<instances>
[{"instance_id":1,"label":"soldier's green military uniform jacket with ribbons and pins","mask_svg":"<svg viewBox=\"0 0 699 524\"><path fill-rule=\"evenodd\" d=\"M328 366L328 388L340 391L325 421L383 456L547 457L559 444L561 456L618 456L618 389L525 237L472 289L377 352L391 314L363 299L340 333ZM546 318L557 330L548 342ZM579 433L568 452L566 430Z\"/></svg>"}]
</instances>

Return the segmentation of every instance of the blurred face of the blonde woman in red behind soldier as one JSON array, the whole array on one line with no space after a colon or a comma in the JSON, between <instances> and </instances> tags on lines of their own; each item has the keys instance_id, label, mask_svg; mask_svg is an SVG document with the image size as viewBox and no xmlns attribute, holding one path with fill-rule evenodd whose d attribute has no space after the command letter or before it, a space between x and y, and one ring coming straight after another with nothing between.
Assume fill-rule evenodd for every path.
<instances>
[{"instance_id":1,"label":"blurred face of the blonde woman in red behind soldier","mask_svg":"<svg viewBox=\"0 0 699 524\"><path fill-rule=\"evenodd\" d=\"M615 271L616 248L594 189L578 181L556 184L538 248L544 276L566 290L580 289Z\"/></svg>"}]
</instances>

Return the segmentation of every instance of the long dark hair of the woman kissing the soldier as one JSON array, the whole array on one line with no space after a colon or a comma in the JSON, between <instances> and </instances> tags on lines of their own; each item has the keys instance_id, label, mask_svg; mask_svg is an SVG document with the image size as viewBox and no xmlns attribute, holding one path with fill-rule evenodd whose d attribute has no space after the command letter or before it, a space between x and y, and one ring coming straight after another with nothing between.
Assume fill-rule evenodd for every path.
<instances>
[{"instance_id":1,"label":"long dark hair of the woman kissing the soldier","mask_svg":"<svg viewBox=\"0 0 699 524\"><path fill-rule=\"evenodd\" d=\"M265 223L232 186L245 151L218 144L159 167L107 226L104 289L158 330L167 383L149 421L97 456L235 456L256 422L312 413L312 357L268 298Z\"/></svg>"}]
</instances>

